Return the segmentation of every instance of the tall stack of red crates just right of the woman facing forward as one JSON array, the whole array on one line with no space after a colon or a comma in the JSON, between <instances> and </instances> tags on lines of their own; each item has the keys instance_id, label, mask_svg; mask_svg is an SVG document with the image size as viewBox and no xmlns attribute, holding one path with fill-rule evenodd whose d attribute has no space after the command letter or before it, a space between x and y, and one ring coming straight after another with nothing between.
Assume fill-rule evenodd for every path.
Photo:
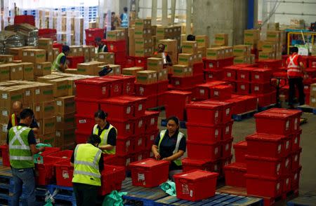
<instances>
[{"instance_id":1,"label":"tall stack of red crates just right of the woman facing forward","mask_svg":"<svg viewBox=\"0 0 316 206\"><path fill-rule=\"evenodd\" d=\"M232 159L232 104L206 100L187 105L187 158L183 170L221 174Z\"/></svg>"}]
</instances>

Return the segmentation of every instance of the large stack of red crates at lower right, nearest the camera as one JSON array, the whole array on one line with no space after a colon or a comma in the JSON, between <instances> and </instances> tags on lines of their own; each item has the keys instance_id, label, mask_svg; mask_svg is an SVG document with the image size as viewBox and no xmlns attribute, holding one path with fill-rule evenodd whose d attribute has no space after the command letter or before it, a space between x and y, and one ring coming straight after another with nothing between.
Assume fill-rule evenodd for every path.
<instances>
[{"instance_id":1,"label":"large stack of red crates at lower right, nearest the camera","mask_svg":"<svg viewBox=\"0 0 316 206\"><path fill-rule=\"evenodd\" d=\"M269 109L255 118L256 134L246 137L247 193L277 198L298 191L301 111Z\"/></svg>"}]
</instances>

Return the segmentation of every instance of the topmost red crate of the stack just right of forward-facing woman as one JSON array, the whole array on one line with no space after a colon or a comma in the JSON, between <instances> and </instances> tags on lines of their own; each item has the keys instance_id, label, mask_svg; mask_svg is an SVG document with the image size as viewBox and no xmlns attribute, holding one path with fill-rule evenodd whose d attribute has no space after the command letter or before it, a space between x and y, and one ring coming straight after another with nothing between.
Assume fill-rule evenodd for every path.
<instances>
[{"instance_id":1,"label":"topmost red crate of the stack just right of forward-facing woman","mask_svg":"<svg viewBox=\"0 0 316 206\"><path fill-rule=\"evenodd\" d=\"M223 106L192 102L187 104L187 121L190 123L204 123L218 125L222 123Z\"/></svg>"}]
</instances>

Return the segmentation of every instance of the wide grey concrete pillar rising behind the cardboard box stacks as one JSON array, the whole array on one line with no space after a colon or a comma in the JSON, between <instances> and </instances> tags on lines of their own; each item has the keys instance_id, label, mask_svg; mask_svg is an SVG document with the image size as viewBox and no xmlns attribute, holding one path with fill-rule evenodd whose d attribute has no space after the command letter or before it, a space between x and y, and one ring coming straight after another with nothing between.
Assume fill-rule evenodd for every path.
<instances>
[{"instance_id":1,"label":"wide grey concrete pillar rising behind the cardboard box stacks","mask_svg":"<svg viewBox=\"0 0 316 206\"><path fill-rule=\"evenodd\" d=\"M213 43L214 34L227 33L230 46L243 43L247 5L244 0L194 0L194 34L207 34Z\"/></svg>"}]
</instances>

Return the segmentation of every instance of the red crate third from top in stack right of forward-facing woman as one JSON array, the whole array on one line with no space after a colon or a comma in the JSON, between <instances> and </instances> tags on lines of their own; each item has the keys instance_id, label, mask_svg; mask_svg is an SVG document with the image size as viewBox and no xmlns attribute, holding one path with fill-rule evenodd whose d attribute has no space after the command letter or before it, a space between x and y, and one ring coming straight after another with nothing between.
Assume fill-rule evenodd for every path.
<instances>
[{"instance_id":1,"label":"red crate third from top in stack right of forward-facing woman","mask_svg":"<svg viewBox=\"0 0 316 206\"><path fill-rule=\"evenodd\" d=\"M195 159L218 160L220 144L187 140L187 157Z\"/></svg>"}]
</instances>

